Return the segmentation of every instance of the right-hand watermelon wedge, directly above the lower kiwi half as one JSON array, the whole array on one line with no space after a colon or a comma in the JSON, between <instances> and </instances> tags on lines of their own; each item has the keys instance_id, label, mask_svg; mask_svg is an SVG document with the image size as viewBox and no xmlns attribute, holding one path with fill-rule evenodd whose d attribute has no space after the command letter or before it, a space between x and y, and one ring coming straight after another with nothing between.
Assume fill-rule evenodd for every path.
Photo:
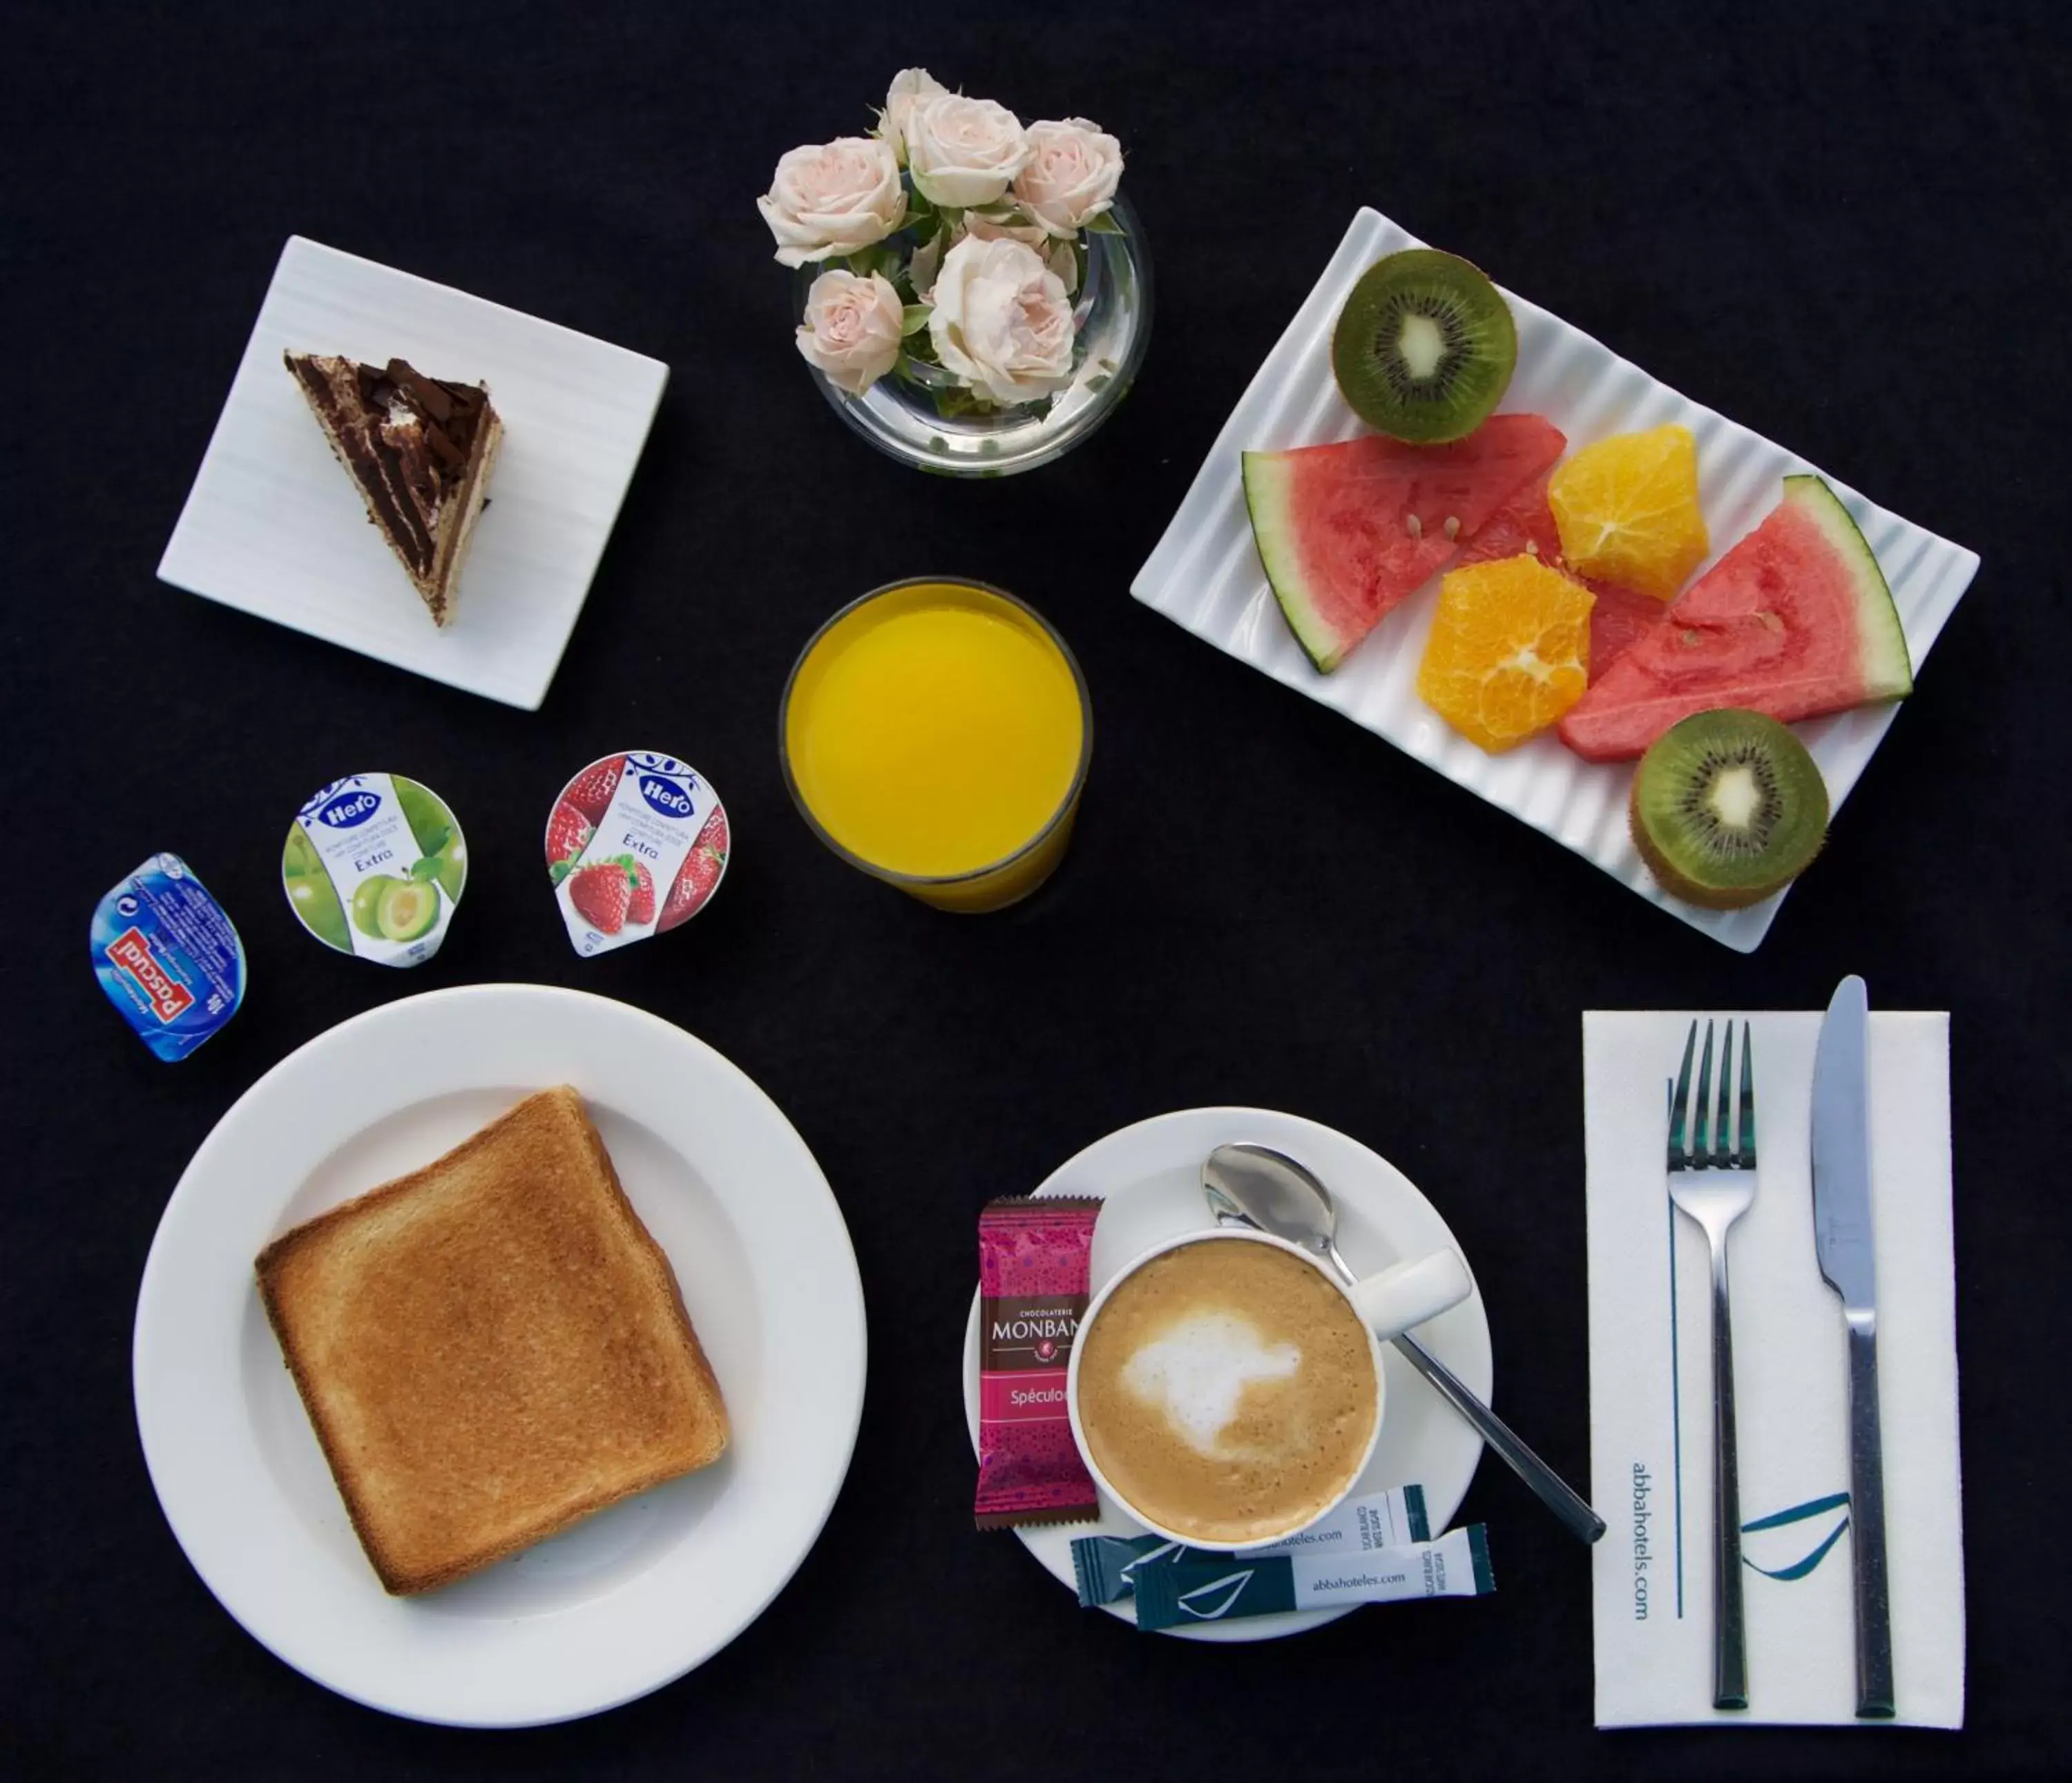
<instances>
[{"instance_id":1,"label":"right-hand watermelon wedge, directly above the lower kiwi half","mask_svg":"<svg viewBox=\"0 0 2072 1783\"><path fill-rule=\"evenodd\" d=\"M1767 520L1693 582L1560 721L1591 762L1627 762L1716 706L1817 719L1915 690L1892 590L1817 476L1786 476Z\"/></svg>"}]
</instances>

